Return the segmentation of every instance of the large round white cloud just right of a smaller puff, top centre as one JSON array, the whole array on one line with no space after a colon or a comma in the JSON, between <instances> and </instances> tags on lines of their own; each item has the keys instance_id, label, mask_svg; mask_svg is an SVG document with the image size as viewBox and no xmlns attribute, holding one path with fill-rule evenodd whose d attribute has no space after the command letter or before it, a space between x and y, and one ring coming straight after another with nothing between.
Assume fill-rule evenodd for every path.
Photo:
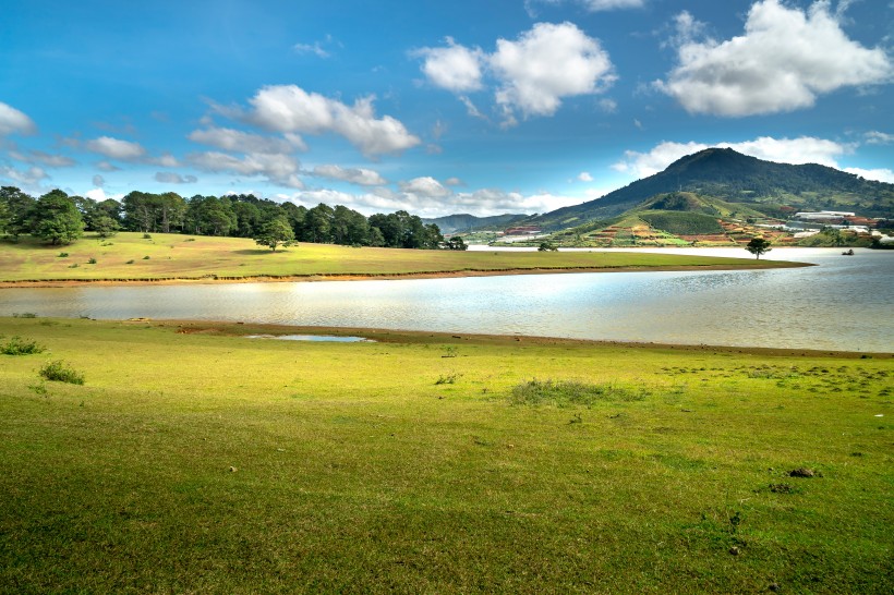
<instances>
[{"instance_id":1,"label":"large round white cloud just right of a smaller puff, top centre","mask_svg":"<svg viewBox=\"0 0 894 595\"><path fill-rule=\"evenodd\" d=\"M608 53L572 23L537 23L517 41L497 40L496 101L523 116L552 116L561 99L604 90L617 78Z\"/></svg>"}]
</instances>

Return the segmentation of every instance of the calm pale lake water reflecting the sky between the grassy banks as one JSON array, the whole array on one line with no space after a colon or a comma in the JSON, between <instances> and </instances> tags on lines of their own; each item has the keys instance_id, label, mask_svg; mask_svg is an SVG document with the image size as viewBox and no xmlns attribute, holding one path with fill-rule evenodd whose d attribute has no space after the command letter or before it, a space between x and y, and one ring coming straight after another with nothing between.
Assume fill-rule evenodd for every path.
<instances>
[{"instance_id":1,"label":"calm pale lake water reflecting the sky between the grassy banks","mask_svg":"<svg viewBox=\"0 0 894 595\"><path fill-rule=\"evenodd\" d=\"M675 252L667 250L664 252ZM679 251L676 251L679 252ZM698 254L741 256L742 251ZM401 281L0 290L0 314L243 320L894 351L894 252L777 250L820 266Z\"/></svg>"}]
</instances>

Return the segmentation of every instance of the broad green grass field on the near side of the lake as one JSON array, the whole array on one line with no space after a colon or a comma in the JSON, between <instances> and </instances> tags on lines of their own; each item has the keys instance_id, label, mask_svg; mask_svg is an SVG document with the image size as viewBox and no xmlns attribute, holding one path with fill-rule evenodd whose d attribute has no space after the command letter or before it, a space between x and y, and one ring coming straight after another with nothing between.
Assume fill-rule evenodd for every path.
<instances>
[{"instance_id":1,"label":"broad green grass field on the near side of the lake","mask_svg":"<svg viewBox=\"0 0 894 595\"><path fill-rule=\"evenodd\" d=\"M0 318L0 591L894 590L890 355L257 331Z\"/></svg>"}]
</instances>

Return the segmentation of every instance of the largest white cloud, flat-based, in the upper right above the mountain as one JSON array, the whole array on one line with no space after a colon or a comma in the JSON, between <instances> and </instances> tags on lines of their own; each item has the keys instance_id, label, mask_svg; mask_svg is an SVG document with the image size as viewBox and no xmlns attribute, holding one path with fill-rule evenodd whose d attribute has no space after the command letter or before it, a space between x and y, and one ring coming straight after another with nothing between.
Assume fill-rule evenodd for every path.
<instances>
[{"instance_id":1,"label":"largest white cloud, flat-based, in the upper right above the mountain","mask_svg":"<svg viewBox=\"0 0 894 595\"><path fill-rule=\"evenodd\" d=\"M849 39L824 0L807 11L780 0L756 2L744 35L685 40L678 59L657 88L690 113L726 117L807 108L818 95L886 83L894 73L885 50Z\"/></svg>"}]
</instances>

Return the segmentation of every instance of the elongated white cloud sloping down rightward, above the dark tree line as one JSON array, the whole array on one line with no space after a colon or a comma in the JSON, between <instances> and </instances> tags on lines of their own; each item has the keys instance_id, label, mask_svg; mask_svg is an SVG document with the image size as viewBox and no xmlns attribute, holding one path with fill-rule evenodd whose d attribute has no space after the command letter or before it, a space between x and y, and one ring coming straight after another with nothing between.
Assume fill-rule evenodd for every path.
<instances>
[{"instance_id":1,"label":"elongated white cloud sloping down rightward, above the dark tree line","mask_svg":"<svg viewBox=\"0 0 894 595\"><path fill-rule=\"evenodd\" d=\"M390 116L376 118L373 97L347 106L297 85L262 88L249 101L254 108L247 119L267 130L283 133L333 132L348 139L367 157L400 153L421 143Z\"/></svg>"}]
</instances>

